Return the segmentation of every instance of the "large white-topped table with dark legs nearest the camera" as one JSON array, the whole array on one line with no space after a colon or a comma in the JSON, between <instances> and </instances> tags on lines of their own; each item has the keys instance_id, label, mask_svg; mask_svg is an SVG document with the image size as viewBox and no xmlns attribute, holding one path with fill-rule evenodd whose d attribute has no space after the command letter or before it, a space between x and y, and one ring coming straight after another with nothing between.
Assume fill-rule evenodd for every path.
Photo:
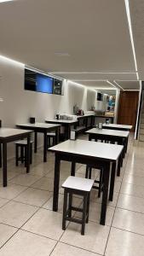
<instances>
[{"instance_id":1,"label":"large white-topped table with dark legs nearest the camera","mask_svg":"<svg viewBox=\"0 0 144 256\"><path fill-rule=\"evenodd\" d=\"M112 201L115 172L118 166L118 158L123 151L123 145L108 143L95 143L86 140L67 140L60 143L49 151L55 153L55 177L53 194L53 211L58 211L59 184L60 184L60 161L72 163L71 175L75 175L76 163L97 168L103 168L103 193L101 202L100 224L105 224L107 213L107 196L109 189L109 200ZM109 188L110 180L110 188Z\"/></svg>"}]
</instances>

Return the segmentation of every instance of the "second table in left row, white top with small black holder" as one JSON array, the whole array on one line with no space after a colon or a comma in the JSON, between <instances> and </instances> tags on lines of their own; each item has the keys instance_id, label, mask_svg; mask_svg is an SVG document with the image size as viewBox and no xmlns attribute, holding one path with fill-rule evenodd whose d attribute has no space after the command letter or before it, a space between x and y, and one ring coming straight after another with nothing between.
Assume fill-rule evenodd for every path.
<instances>
[{"instance_id":1,"label":"second table in left row, white top with small black holder","mask_svg":"<svg viewBox=\"0 0 144 256\"><path fill-rule=\"evenodd\" d=\"M47 142L47 133L50 131L55 131L56 136L56 144L59 143L59 132L60 125L56 124L46 124L46 123L34 123L34 124L17 124L16 127L20 129L34 131L34 152L37 153L37 133L43 134L43 162L47 161L47 150L48 150L48 142Z\"/></svg>"}]
</instances>

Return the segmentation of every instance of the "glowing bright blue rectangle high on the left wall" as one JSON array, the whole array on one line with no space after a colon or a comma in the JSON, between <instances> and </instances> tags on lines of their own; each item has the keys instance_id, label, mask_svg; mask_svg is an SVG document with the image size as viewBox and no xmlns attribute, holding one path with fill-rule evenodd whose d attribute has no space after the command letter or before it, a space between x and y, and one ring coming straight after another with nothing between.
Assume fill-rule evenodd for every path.
<instances>
[{"instance_id":1,"label":"glowing bright blue rectangle high on the left wall","mask_svg":"<svg viewBox=\"0 0 144 256\"><path fill-rule=\"evenodd\" d=\"M43 74L37 73L36 91L52 94L53 93L53 83L54 83L53 78L50 78L50 77L44 76Z\"/></svg>"}]
</instances>

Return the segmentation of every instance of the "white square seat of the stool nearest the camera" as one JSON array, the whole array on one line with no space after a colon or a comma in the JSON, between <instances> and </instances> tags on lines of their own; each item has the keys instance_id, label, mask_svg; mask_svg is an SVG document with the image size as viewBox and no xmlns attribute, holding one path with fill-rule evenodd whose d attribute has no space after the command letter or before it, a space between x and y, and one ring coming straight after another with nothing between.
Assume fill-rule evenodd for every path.
<instances>
[{"instance_id":1,"label":"white square seat of the stool nearest the camera","mask_svg":"<svg viewBox=\"0 0 144 256\"><path fill-rule=\"evenodd\" d=\"M66 181L62 184L64 189L77 189L86 192L90 192L94 184L94 180L84 177L73 177L69 176Z\"/></svg>"}]
</instances>

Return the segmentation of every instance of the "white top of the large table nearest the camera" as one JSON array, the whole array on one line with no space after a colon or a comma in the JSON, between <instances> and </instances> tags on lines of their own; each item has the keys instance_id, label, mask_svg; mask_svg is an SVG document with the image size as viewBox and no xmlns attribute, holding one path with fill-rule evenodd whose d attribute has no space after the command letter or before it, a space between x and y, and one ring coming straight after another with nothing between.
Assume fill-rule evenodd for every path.
<instances>
[{"instance_id":1,"label":"white top of the large table nearest the camera","mask_svg":"<svg viewBox=\"0 0 144 256\"><path fill-rule=\"evenodd\" d=\"M103 160L118 160L118 156L121 154L123 148L124 146L115 144L95 143L84 140L67 140L64 143L49 148L49 150L91 156Z\"/></svg>"}]
</instances>

